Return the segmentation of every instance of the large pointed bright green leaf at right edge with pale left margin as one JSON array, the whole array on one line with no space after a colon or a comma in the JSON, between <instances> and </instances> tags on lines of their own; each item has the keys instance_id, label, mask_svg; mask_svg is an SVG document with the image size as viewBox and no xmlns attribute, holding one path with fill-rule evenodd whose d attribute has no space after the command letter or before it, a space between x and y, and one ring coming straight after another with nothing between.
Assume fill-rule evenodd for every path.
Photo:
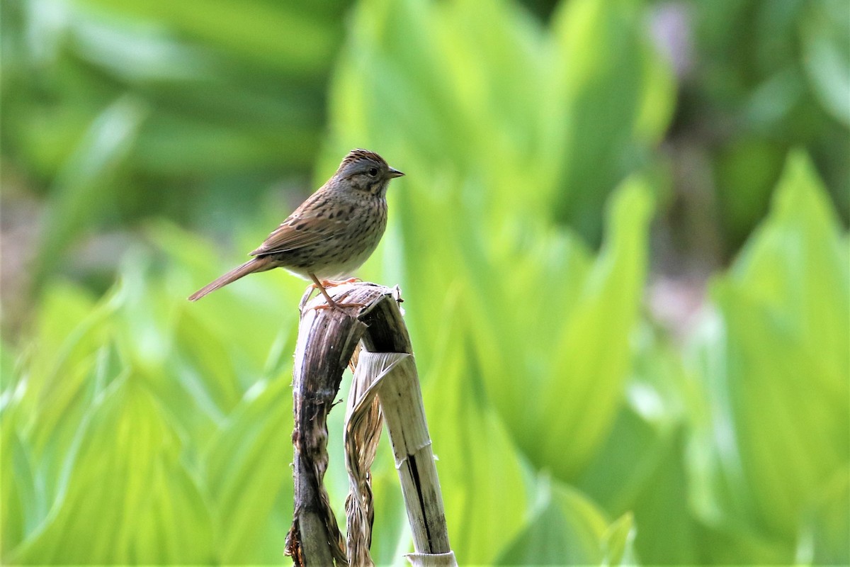
<instances>
[{"instance_id":1,"label":"large pointed bright green leaf at right edge with pale left margin","mask_svg":"<svg viewBox=\"0 0 850 567\"><path fill-rule=\"evenodd\" d=\"M806 502L850 460L847 246L802 154L711 297L690 359L711 407L694 437L694 502L711 524L790 548Z\"/></svg>"}]
</instances>

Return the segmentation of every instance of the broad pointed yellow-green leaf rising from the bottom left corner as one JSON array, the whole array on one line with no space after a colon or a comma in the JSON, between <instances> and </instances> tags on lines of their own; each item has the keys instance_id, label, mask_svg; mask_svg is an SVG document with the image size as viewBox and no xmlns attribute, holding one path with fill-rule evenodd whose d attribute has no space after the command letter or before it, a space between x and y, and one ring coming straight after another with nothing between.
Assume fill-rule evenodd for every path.
<instances>
[{"instance_id":1,"label":"broad pointed yellow-green leaf rising from the bottom left corner","mask_svg":"<svg viewBox=\"0 0 850 567\"><path fill-rule=\"evenodd\" d=\"M132 375L80 430L66 485L14 563L209 563L212 521L179 460L178 433Z\"/></svg>"}]
</instances>

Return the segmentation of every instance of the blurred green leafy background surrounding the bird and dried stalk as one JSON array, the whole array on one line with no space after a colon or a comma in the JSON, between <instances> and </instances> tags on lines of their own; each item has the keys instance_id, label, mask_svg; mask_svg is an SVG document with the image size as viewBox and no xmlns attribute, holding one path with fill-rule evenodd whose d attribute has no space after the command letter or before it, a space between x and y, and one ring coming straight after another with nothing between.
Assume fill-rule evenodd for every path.
<instances>
[{"instance_id":1,"label":"blurred green leafy background surrounding the bird and dried stalk","mask_svg":"<svg viewBox=\"0 0 850 567\"><path fill-rule=\"evenodd\" d=\"M347 4L3 3L4 208L44 205L3 562L280 563L304 284L184 297L364 146L407 173L361 275L404 292L461 564L850 563L846 4ZM677 223L743 244L682 340L643 300ZM386 445L373 482L404 564Z\"/></svg>"}]
</instances>

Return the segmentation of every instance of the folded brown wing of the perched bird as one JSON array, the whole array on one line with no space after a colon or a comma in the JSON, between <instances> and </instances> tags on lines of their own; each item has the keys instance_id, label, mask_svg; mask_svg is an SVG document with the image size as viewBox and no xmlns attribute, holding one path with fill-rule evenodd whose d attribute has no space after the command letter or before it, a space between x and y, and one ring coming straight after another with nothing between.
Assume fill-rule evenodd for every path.
<instances>
[{"instance_id":1,"label":"folded brown wing of the perched bird","mask_svg":"<svg viewBox=\"0 0 850 567\"><path fill-rule=\"evenodd\" d=\"M311 198L304 202L251 255L289 252L341 234L348 225L348 218L327 218L327 209L321 204L316 207L316 201Z\"/></svg>"}]
</instances>

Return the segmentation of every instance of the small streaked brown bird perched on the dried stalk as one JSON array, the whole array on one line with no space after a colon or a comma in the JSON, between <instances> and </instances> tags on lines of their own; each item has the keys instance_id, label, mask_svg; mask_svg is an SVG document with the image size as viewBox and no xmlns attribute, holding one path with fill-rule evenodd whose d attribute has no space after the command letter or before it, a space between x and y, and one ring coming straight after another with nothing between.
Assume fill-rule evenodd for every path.
<instances>
[{"instance_id":1,"label":"small streaked brown bird perched on the dried stalk","mask_svg":"<svg viewBox=\"0 0 850 567\"><path fill-rule=\"evenodd\" d=\"M326 287L366 261L387 228L387 186L404 173L368 150L351 150L337 173L251 252L254 257L190 295L196 301L243 275L284 268L312 280L328 307Z\"/></svg>"}]
</instances>

